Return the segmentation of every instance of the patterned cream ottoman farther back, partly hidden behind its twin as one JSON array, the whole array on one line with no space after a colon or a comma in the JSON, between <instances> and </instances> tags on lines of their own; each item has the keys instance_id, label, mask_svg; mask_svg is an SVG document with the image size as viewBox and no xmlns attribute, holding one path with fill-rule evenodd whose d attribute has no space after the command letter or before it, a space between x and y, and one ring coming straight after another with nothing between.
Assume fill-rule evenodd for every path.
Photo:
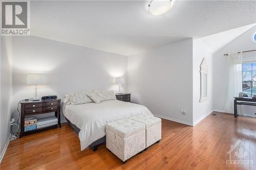
<instances>
[{"instance_id":1,"label":"patterned cream ottoman farther back, partly hidden behind its twin","mask_svg":"<svg viewBox=\"0 0 256 170\"><path fill-rule=\"evenodd\" d=\"M135 115L129 118L145 125L146 148L160 141L162 128L161 118L153 115Z\"/></svg>"}]
</instances>

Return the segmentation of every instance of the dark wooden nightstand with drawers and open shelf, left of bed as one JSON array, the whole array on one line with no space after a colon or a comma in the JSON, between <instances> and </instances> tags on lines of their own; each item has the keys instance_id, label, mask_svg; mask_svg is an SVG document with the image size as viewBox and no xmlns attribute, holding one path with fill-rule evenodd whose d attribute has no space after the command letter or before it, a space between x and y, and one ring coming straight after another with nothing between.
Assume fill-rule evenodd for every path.
<instances>
[{"instance_id":1,"label":"dark wooden nightstand with drawers and open shelf, left of bed","mask_svg":"<svg viewBox=\"0 0 256 170\"><path fill-rule=\"evenodd\" d=\"M24 124L25 124L25 116L32 116L32 115L36 115L36 114L45 114L45 113L51 113L51 112L55 112L55 116L58 118L58 126L61 128L60 125L60 99L55 99L55 100L48 100L48 101L22 101L20 102L20 136L22 137L25 134L29 134L32 132L36 132L36 131L41 131L47 128L42 128L42 129L38 129L38 130L32 130L32 131L27 131L24 132ZM53 125L52 127L54 127L56 125Z\"/></svg>"}]
</instances>

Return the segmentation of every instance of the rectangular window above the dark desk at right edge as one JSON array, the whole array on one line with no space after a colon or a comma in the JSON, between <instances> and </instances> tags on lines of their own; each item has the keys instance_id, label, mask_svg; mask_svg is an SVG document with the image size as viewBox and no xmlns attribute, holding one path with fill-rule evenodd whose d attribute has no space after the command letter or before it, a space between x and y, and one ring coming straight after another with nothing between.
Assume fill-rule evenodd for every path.
<instances>
[{"instance_id":1,"label":"rectangular window above the dark desk at right edge","mask_svg":"<svg viewBox=\"0 0 256 170\"><path fill-rule=\"evenodd\" d=\"M245 96L256 95L256 62L242 64L242 88Z\"/></svg>"}]
</instances>

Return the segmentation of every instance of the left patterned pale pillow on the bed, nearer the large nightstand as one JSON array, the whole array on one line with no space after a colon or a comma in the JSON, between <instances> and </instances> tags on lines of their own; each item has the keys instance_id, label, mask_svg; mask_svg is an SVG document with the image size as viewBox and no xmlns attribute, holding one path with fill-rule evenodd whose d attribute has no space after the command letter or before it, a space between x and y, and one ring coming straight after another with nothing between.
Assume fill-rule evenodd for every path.
<instances>
[{"instance_id":1,"label":"left patterned pale pillow on the bed, nearer the large nightstand","mask_svg":"<svg viewBox=\"0 0 256 170\"><path fill-rule=\"evenodd\" d=\"M70 102L72 105L79 105L85 103L92 103L92 99L89 98L88 93L91 91L77 91L70 94Z\"/></svg>"}]
</instances>

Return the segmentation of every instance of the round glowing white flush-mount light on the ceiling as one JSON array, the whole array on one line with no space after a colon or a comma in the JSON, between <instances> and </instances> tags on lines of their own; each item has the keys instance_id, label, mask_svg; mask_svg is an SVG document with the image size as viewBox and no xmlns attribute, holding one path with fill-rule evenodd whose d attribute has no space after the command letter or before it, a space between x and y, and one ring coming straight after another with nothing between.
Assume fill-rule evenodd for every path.
<instances>
[{"instance_id":1,"label":"round glowing white flush-mount light on the ceiling","mask_svg":"<svg viewBox=\"0 0 256 170\"><path fill-rule=\"evenodd\" d=\"M162 15L170 10L172 0L152 0L148 4L148 12L152 15Z\"/></svg>"}]
</instances>

